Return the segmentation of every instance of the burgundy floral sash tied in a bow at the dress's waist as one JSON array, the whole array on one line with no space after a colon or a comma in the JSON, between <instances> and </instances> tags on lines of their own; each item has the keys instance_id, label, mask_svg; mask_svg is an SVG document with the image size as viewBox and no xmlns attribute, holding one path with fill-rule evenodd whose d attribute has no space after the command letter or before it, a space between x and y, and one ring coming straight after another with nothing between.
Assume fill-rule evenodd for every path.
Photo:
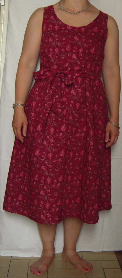
<instances>
[{"instance_id":1,"label":"burgundy floral sash tied in a bow at the dress's waist","mask_svg":"<svg viewBox=\"0 0 122 278\"><path fill-rule=\"evenodd\" d=\"M53 94L52 94L52 88L51 83L54 79L54 77L59 77L62 82L65 85L72 85L75 83L76 77L86 78L86 79L100 79L101 75L95 75L95 74L88 74L84 73L79 69L73 69L73 70L64 70L64 69L51 69L51 68L42 68L41 70L37 72L33 72L33 76L35 81L37 81L37 87L41 87L43 83L41 84L40 81L43 81L43 79L47 79L46 83L46 89L45 89L45 95L42 97L42 103L41 103L41 115L43 115L43 122L42 122L42 128L45 130L45 123L46 118L49 113L49 110L52 107L52 111L54 111L59 116L63 117L64 119L68 118L68 109L67 107L60 109L60 100L53 101ZM38 84L39 81L39 84ZM44 84L45 85L45 84ZM62 97L62 96L61 96ZM53 106L52 106L53 104ZM59 105L59 106L58 106ZM64 109L67 112L64 114Z\"/></svg>"}]
</instances>

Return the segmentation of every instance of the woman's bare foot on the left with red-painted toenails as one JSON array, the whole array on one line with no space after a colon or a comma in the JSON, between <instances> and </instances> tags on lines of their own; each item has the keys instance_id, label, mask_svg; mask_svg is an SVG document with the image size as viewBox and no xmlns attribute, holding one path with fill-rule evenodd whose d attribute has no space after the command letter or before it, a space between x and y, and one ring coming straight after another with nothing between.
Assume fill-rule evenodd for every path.
<instances>
[{"instance_id":1,"label":"woman's bare foot on the left with red-painted toenails","mask_svg":"<svg viewBox=\"0 0 122 278\"><path fill-rule=\"evenodd\" d=\"M36 275L43 275L51 262L55 259L54 251L44 251L42 252L41 258L31 264L30 271Z\"/></svg>"}]
</instances>

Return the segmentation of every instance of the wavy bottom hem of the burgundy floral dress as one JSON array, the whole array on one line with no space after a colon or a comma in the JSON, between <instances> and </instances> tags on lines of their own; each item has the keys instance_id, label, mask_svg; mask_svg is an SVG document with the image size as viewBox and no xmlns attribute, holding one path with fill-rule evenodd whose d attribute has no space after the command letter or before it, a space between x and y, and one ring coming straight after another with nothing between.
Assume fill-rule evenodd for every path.
<instances>
[{"instance_id":1,"label":"wavy bottom hem of the burgundy floral dress","mask_svg":"<svg viewBox=\"0 0 122 278\"><path fill-rule=\"evenodd\" d=\"M108 208L108 209L103 209L103 210L111 210L112 209L112 206L110 207L110 208ZM27 218L29 218L30 220L33 220L34 222L36 222L36 223L39 223L39 224L45 224L45 225L55 225L55 224L59 224L60 222L62 222L62 220L63 219L65 219L65 218L78 218L78 219L80 219L83 223L86 223L86 224L96 224L96 223L98 223L98 221L96 221L96 222L94 222L94 223L88 223L88 222L85 222L84 220L82 220L81 218L79 218L79 217L75 217L75 216L73 216L73 217L62 217L62 220L60 220L59 222L57 222L57 223L53 223L53 224L47 224L47 223L42 223L42 222L37 222L35 219L33 219L32 217L29 217L29 216L27 216L27 215L25 215L25 214L20 214L20 213L16 213L16 212L12 212L12 211L9 211L9 210L7 210L7 209L5 209L5 208L3 208L3 210L5 210L5 211L7 211L7 212L10 212L10 213L13 213L13 214L19 214L19 215L22 215L22 216L25 216L25 217L27 217ZM103 210L98 210L98 212L100 212L100 211L103 211ZM98 217L98 220L99 220L99 217Z\"/></svg>"}]
</instances>

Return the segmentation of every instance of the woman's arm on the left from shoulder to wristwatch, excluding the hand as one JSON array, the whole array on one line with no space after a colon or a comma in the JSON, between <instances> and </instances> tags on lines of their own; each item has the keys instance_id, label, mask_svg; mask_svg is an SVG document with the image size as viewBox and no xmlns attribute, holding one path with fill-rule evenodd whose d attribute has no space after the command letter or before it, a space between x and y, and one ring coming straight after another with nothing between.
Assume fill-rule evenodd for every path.
<instances>
[{"instance_id":1,"label":"woman's arm on the left from shoulder to wristwatch, excluding the hand","mask_svg":"<svg viewBox=\"0 0 122 278\"><path fill-rule=\"evenodd\" d=\"M15 103L23 103L26 100L39 58L41 36L42 36L43 8L37 9L28 21L22 53L18 63L15 81ZM21 109L22 106L16 109Z\"/></svg>"}]
</instances>

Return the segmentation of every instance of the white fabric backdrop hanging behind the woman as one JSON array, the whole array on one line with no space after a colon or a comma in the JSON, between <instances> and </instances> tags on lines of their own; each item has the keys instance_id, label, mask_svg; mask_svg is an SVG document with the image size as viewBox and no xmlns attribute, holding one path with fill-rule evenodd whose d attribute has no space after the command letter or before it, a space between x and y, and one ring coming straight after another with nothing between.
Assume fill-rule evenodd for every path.
<instances>
[{"instance_id":1,"label":"white fabric backdrop hanging behind the woman","mask_svg":"<svg viewBox=\"0 0 122 278\"><path fill-rule=\"evenodd\" d=\"M40 256L42 242L37 224L27 217L3 210L3 199L9 170L14 132L12 129L15 77L22 51L24 32L30 15L39 7L56 3L53 0L9 0L9 18L0 109L0 255L5 256ZM122 68L122 1L92 0L99 10L113 16L117 21L120 34L120 66ZM39 70L38 61L36 70ZM103 80L103 79L102 79ZM32 84L33 85L33 84ZM111 192L112 209L99 212L97 224L84 223L77 251L122 250L122 97L120 100L119 126L120 135L117 143L111 147ZM63 249L63 222L57 225L55 253Z\"/></svg>"}]
</instances>

